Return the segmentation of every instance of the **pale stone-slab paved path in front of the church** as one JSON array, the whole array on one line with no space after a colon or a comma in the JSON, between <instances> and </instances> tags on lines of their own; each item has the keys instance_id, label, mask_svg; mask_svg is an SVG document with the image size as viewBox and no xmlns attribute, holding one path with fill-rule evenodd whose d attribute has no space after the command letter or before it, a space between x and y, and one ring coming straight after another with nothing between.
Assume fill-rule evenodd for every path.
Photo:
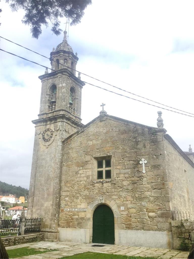
<instances>
[{"instance_id":1,"label":"pale stone-slab paved path in front of the church","mask_svg":"<svg viewBox=\"0 0 194 259\"><path fill-rule=\"evenodd\" d=\"M162 248L148 248L148 247L130 247L130 246L117 246L111 244L98 244L104 245L102 247L93 247L94 243L72 243L72 242L34 242L27 244L20 244L17 246L6 247L6 250L20 248L20 247L30 247L35 249L58 249L58 251L47 252L44 254L36 254L18 257L15 259L21 258L30 258L30 259L56 259L63 256L75 255L84 252L97 252L97 253L106 253L106 254L116 254L116 255L129 255L129 256L147 256L148 258L156 257L161 259L186 259L189 252L180 251L180 250L171 250L171 249L162 249ZM11 259L11 258L10 258Z\"/></svg>"}]
</instances>

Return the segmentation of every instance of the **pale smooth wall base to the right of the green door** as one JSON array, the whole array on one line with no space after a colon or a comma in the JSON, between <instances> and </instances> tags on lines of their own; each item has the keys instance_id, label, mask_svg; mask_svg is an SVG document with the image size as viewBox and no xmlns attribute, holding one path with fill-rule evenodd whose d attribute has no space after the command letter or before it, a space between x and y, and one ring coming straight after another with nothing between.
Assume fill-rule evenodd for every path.
<instances>
[{"instance_id":1,"label":"pale smooth wall base to the right of the green door","mask_svg":"<svg viewBox=\"0 0 194 259\"><path fill-rule=\"evenodd\" d=\"M143 230L117 231L118 239L115 238L115 244L118 245L173 249L172 232ZM118 243L116 243L117 240Z\"/></svg>"}]
</instances>

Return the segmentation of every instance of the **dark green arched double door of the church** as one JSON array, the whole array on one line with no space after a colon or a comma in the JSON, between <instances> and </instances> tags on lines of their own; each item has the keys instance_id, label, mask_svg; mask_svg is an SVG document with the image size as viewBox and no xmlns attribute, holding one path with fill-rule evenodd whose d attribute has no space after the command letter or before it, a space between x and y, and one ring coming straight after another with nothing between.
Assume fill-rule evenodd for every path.
<instances>
[{"instance_id":1,"label":"dark green arched double door of the church","mask_svg":"<svg viewBox=\"0 0 194 259\"><path fill-rule=\"evenodd\" d=\"M93 214L93 243L114 244L114 214L106 205L98 206Z\"/></svg>"}]
</instances>

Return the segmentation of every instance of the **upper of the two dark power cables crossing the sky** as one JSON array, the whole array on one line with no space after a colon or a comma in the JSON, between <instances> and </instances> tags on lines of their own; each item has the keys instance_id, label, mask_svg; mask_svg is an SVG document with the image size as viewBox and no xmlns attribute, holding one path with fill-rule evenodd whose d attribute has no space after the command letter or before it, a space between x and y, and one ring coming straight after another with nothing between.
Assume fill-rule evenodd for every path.
<instances>
[{"instance_id":1,"label":"upper of the two dark power cables crossing the sky","mask_svg":"<svg viewBox=\"0 0 194 259\"><path fill-rule=\"evenodd\" d=\"M20 45L20 44L18 44L18 43L16 43L16 42L13 42L13 41L11 41L11 40L8 40L8 39L6 39L6 38L3 38L2 36L0 36L0 38L2 38L2 39L4 39L4 40L7 40L7 41L9 41L9 42L11 42L11 43L13 43L13 44L16 44L16 45L18 45L18 46L20 46L20 47L22 47L22 48L25 48L25 49L27 49L27 50L29 50L29 51L31 51L31 52L34 52L34 53L36 53L36 54L38 54L38 55L40 55L40 56L42 56L42 57L45 57L46 59L49 59L49 60L50 60L49 57L46 57L46 56L44 56L44 55L42 55L42 54L40 54L40 53L38 53L38 52L35 52L35 51L33 51L32 49L26 48L26 47L24 47L24 46L22 46L22 45ZM84 73L82 73L82 72L80 72L80 71L78 71L78 70L76 70L76 69L73 69L73 68L71 68L71 67L68 67L68 66L66 66L66 65L64 65L64 64L62 64L62 63L60 63L60 62L55 61L55 60L52 60L52 61L56 62L57 64L61 64L62 66L67 67L67 68L69 68L69 69L71 69L71 70L74 70L74 71L76 71L76 72L78 72L78 73L81 73L82 75L85 75L85 76L88 76L88 77L90 77L90 78L93 78L94 80L97 80L97 81L99 81L99 82L105 83L105 84L110 85L110 86L112 86L112 87L114 87L114 88L117 88L117 89L119 89L119 90L121 90L121 91L130 93L130 94L132 94L132 95L138 96L138 97L140 97L140 98L146 99L146 100L151 101L151 102L154 102L154 103L158 103L158 104L160 104L160 105L169 107L169 108L174 109L174 110L177 110L177 111L186 112L186 111L183 111L183 110L180 110L180 109L177 109L177 108L174 108L174 107L171 107L171 106L168 106L168 105L165 105L165 104L162 104L162 103L153 101L153 100L151 100L151 99L148 99L148 98L146 98L146 97L137 95L137 94L135 94L135 93L126 91L126 90L124 90L124 89L122 89L122 88L116 87L115 85L106 83L106 82L104 82L104 81L101 81L100 79L97 79L97 78L95 78L95 77L92 77L92 76L89 76L89 75L87 75L87 74L84 74ZM156 107L157 107L157 106L156 106ZM189 113L189 114L194 115L194 113L190 113L190 112L186 112L186 113Z\"/></svg>"}]
</instances>

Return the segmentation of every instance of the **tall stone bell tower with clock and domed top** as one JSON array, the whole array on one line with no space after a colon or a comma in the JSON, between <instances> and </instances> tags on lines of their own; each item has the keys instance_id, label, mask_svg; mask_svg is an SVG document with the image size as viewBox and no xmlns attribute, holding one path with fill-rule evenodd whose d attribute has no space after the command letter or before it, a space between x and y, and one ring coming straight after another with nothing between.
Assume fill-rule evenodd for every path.
<instances>
[{"instance_id":1,"label":"tall stone bell tower with clock and domed top","mask_svg":"<svg viewBox=\"0 0 194 259\"><path fill-rule=\"evenodd\" d=\"M76 77L77 53L64 39L50 53L52 71L39 76L42 82L40 114L35 124L29 188L28 217L43 218L45 239L58 239L58 212L62 167L62 141L81 123L81 89ZM60 72L60 73L58 73Z\"/></svg>"}]
</instances>

